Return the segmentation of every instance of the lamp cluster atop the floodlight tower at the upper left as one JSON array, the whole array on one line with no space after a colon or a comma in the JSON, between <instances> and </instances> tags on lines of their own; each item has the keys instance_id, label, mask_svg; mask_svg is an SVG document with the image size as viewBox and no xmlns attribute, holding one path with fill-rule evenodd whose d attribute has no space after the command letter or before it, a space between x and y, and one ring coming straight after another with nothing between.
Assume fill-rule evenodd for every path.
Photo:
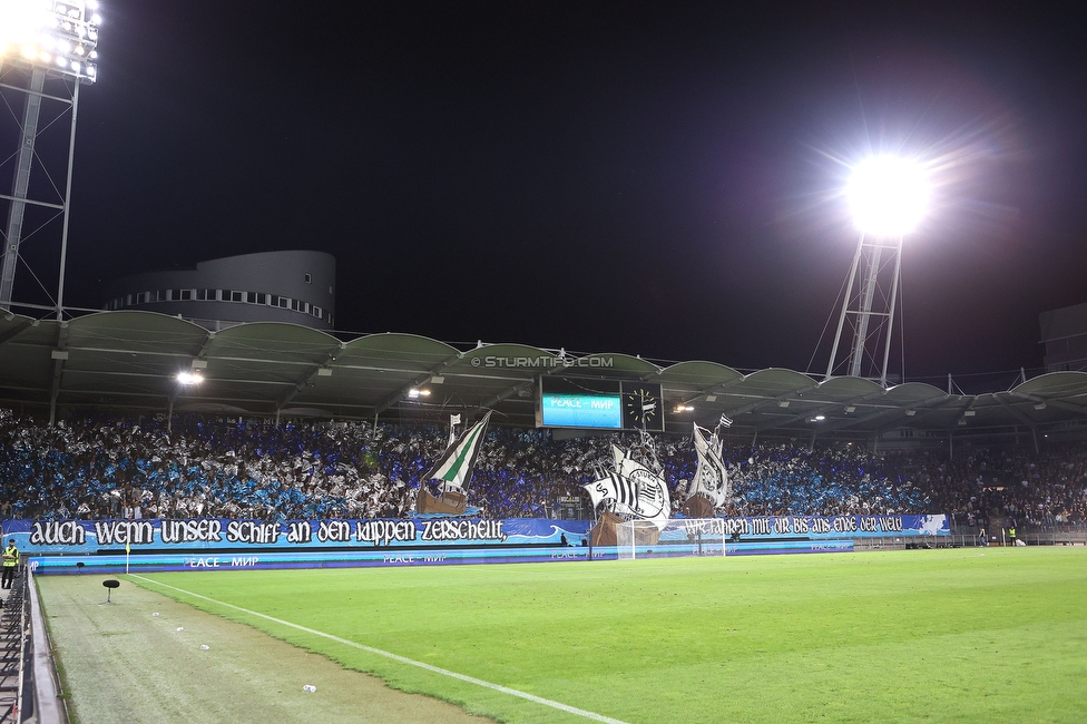
<instances>
[{"instance_id":1,"label":"lamp cluster atop the floodlight tower at the upper left","mask_svg":"<svg viewBox=\"0 0 1087 724\"><path fill-rule=\"evenodd\" d=\"M97 9L96 0L0 0L0 58L95 82Z\"/></svg>"}]
</instances>

